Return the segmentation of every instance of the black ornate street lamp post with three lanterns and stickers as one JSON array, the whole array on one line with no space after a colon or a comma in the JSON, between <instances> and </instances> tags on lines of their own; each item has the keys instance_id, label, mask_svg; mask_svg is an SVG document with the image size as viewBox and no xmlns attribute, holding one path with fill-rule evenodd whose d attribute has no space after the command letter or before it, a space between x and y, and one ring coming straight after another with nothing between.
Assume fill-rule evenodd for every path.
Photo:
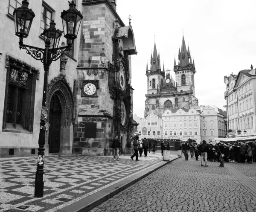
<instances>
[{"instance_id":1,"label":"black ornate street lamp post with three lanterns and stickers","mask_svg":"<svg viewBox=\"0 0 256 212\"><path fill-rule=\"evenodd\" d=\"M67 38L67 46L58 47L62 31L55 28L55 23L52 20L49 29L44 29L41 34L44 36L45 49L35 46L29 46L23 44L23 38L29 36L29 30L32 25L35 13L32 9L28 8L29 3L27 0L23 0L22 6L16 8L13 12L15 20L15 35L20 38L20 49L26 49L26 53L31 55L34 59L40 60L44 64L44 89L43 89L43 101L41 110L40 132L38 139L38 163L37 171L35 173L35 197L44 196L44 144L45 133L49 129L49 123L47 122L47 108L46 108L46 94L47 94L47 79L49 73L49 67L52 61L58 60L65 53L69 51L73 44L72 42L77 38L79 27L83 16L81 12L76 9L76 4L72 1L68 10L61 12L62 24L64 28L64 37Z\"/></svg>"}]
</instances>

